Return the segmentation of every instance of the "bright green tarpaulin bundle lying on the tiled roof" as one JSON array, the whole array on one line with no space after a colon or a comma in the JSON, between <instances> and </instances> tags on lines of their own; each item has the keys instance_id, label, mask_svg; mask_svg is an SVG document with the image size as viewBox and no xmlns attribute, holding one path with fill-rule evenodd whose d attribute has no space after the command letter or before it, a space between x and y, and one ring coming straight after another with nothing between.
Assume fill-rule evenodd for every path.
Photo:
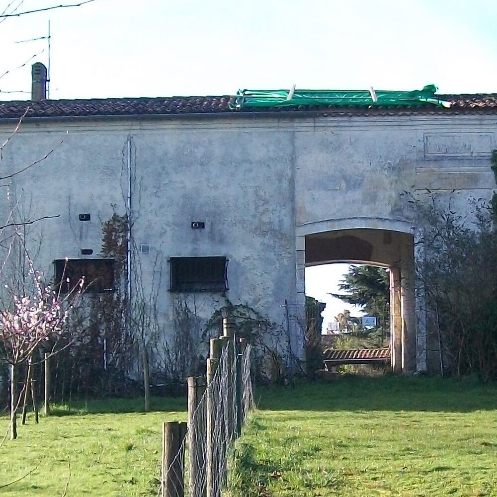
<instances>
[{"instance_id":1,"label":"bright green tarpaulin bundle lying on the tiled roof","mask_svg":"<svg viewBox=\"0 0 497 497\"><path fill-rule=\"evenodd\" d=\"M234 108L270 108L305 106L385 106L406 107L430 103L449 107L450 103L440 100L433 84L422 90L238 90Z\"/></svg>"}]
</instances>

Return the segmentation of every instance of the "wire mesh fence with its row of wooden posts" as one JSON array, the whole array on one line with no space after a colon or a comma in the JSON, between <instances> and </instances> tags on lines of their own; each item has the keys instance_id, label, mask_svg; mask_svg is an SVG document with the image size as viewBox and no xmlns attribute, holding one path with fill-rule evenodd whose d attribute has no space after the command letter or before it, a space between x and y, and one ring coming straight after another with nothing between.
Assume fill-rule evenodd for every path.
<instances>
[{"instance_id":1,"label":"wire mesh fence with its row of wooden posts","mask_svg":"<svg viewBox=\"0 0 497 497\"><path fill-rule=\"evenodd\" d=\"M188 425L164 423L162 497L220 497L228 458L253 404L250 345L224 322L207 375L188 379Z\"/></svg>"}]
</instances>

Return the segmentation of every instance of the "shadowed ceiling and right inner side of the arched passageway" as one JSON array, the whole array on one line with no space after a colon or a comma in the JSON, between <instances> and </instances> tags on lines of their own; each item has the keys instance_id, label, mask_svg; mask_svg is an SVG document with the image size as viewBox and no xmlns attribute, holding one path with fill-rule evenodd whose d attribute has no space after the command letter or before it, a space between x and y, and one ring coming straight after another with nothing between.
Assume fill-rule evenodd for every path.
<instances>
[{"instance_id":1,"label":"shadowed ceiling and right inner side of the arched passageway","mask_svg":"<svg viewBox=\"0 0 497 497\"><path fill-rule=\"evenodd\" d=\"M305 236L305 266L336 262L388 268L390 277L390 360L395 372L416 366L414 237L383 229L342 229Z\"/></svg>"}]
</instances>

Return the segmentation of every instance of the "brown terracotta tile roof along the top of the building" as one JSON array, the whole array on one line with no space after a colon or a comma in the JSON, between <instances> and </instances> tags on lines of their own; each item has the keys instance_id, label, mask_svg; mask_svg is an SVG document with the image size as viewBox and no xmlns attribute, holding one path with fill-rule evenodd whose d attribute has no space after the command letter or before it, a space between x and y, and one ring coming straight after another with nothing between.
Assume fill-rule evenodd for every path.
<instances>
[{"instance_id":1,"label":"brown terracotta tile roof along the top of the building","mask_svg":"<svg viewBox=\"0 0 497 497\"><path fill-rule=\"evenodd\" d=\"M235 97L189 96L154 98L92 98L88 100L44 100L44 101L0 101L0 119L18 119L29 110L26 117L106 117L106 116L153 116L183 114L243 114L258 112L311 112L333 117L354 116L403 116L412 114L497 114L497 93L440 95L452 103L441 108L426 104L406 107L342 107L342 106L298 106L277 109L232 110L229 104Z\"/></svg>"}]
</instances>

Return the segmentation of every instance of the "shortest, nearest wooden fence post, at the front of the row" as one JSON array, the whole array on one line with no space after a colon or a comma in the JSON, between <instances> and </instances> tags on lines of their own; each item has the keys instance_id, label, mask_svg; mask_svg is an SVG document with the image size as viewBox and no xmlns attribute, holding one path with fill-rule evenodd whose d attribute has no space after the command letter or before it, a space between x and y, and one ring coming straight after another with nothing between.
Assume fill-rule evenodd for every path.
<instances>
[{"instance_id":1,"label":"shortest, nearest wooden fence post, at the front of the row","mask_svg":"<svg viewBox=\"0 0 497 497\"><path fill-rule=\"evenodd\" d=\"M184 497L186 423L169 421L162 429L162 497Z\"/></svg>"}]
</instances>

